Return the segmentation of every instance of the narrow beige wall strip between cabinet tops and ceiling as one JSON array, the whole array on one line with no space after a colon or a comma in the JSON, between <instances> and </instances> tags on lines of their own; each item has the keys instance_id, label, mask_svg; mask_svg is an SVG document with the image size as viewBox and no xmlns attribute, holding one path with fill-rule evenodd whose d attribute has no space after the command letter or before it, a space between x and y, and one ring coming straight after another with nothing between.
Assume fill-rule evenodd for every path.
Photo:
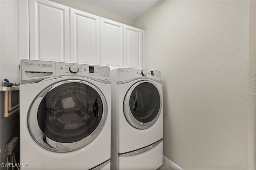
<instances>
[{"instance_id":1,"label":"narrow beige wall strip between cabinet tops and ceiling","mask_svg":"<svg viewBox=\"0 0 256 170\"><path fill-rule=\"evenodd\" d=\"M84 12L88 12L90 14L94 14L96 16L101 16L103 18L107 18L109 20L113 20L116 22L120 22L122 24L126 24L128 26L134 26L134 20L129 19L127 17L121 16L114 12L105 10L103 8L93 6L88 4L82 0L51 0L53 2L57 2L62 5L69 6L71 8L75 8Z\"/></svg>"}]
</instances>

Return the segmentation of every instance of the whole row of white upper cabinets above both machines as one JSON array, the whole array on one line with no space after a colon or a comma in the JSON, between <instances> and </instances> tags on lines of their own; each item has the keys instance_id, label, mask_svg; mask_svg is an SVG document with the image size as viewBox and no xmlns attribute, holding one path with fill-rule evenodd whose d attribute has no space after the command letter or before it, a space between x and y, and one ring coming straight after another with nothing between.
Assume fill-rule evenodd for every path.
<instances>
[{"instance_id":1,"label":"whole row of white upper cabinets above both machines","mask_svg":"<svg viewBox=\"0 0 256 170\"><path fill-rule=\"evenodd\" d=\"M49 0L19 0L19 61L146 68L146 31Z\"/></svg>"}]
</instances>

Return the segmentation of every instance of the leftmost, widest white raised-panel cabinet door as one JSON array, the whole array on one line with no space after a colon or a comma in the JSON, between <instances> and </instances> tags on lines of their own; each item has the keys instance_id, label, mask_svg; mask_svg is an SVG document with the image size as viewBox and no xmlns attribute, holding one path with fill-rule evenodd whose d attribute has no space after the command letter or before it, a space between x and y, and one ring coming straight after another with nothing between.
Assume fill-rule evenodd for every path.
<instances>
[{"instance_id":1,"label":"leftmost, widest white raised-panel cabinet door","mask_svg":"<svg viewBox=\"0 0 256 170\"><path fill-rule=\"evenodd\" d=\"M69 7L30 0L30 58L69 61Z\"/></svg>"}]
</instances>

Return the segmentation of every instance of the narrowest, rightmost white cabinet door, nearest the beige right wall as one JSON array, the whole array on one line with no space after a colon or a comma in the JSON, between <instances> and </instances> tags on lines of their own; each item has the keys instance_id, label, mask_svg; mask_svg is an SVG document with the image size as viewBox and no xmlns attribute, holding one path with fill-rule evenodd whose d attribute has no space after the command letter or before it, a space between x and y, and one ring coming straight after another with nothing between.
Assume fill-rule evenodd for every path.
<instances>
[{"instance_id":1,"label":"narrowest, rightmost white cabinet door, nearest the beige right wall","mask_svg":"<svg viewBox=\"0 0 256 170\"><path fill-rule=\"evenodd\" d=\"M143 67L142 30L124 25L124 67Z\"/></svg>"}]
</instances>

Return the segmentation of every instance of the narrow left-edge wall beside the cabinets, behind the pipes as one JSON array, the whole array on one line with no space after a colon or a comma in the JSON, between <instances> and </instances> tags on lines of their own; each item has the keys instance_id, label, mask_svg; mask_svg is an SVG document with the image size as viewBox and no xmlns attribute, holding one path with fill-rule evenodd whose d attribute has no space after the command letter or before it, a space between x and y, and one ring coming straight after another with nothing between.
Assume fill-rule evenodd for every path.
<instances>
[{"instance_id":1,"label":"narrow left-edge wall beside the cabinets, behind the pipes","mask_svg":"<svg viewBox=\"0 0 256 170\"><path fill-rule=\"evenodd\" d=\"M1 0L0 6L0 86L3 79L19 82L18 66L18 1ZM12 106L18 103L18 93L12 92ZM19 114L4 117L4 92L0 92L0 163L5 163L5 144L19 136ZM16 153L18 161L19 153ZM6 169L1 166L1 170Z\"/></svg>"}]
</instances>

